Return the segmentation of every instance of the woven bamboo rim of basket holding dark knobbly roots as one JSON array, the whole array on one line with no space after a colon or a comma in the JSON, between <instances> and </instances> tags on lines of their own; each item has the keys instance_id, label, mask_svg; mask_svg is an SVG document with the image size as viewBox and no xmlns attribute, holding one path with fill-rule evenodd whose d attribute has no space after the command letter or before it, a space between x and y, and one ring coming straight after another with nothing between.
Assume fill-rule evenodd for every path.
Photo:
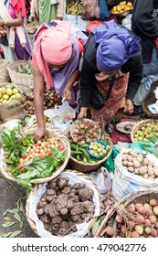
<instances>
[{"instance_id":1,"label":"woven bamboo rim of basket holding dark knobbly roots","mask_svg":"<svg viewBox=\"0 0 158 256\"><path fill-rule=\"evenodd\" d=\"M65 169L63 171L63 173L65 174L72 174L74 177L75 176L78 176L80 177L80 180L83 181L85 180L86 182L90 182L93 186L93 190L95 190L95 192L97 193L98 197L99 197L99 200L100 200L100 191L99 191L99 188L96 186L94 180L90 177L90 176L86 176L84 175L83 173L80 173L76 170L68 170L68 169ZM79 181L78 181L79 182ZM30 211L30 207L31 207L31 204L30 204L30 198L37 192L37 189L39 188L39 185L37 185L36 187L34 187L34 189L29 193L28 197L26 198L26 220L30 226L30 228L38 235L37 233L37 227L36 227L36 223L30 218L30 214L29 214L29 211ZM90 219L89 221L89 230L92 228L92 226L94 225L94 223L97 221L98 219L98 216L96 217L93 217L92 219Z\"/></svg>"}]
</instances>

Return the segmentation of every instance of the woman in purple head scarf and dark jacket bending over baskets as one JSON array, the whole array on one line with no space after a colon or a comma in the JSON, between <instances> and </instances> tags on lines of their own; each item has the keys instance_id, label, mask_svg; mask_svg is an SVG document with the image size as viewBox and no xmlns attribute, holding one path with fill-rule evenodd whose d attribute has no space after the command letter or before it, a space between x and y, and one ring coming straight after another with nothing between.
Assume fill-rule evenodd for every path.
<instances>
[{"instance_id":1,"label":"woman in purple head scarf and dark jacket bending over baskets","mask_svg":"<svg viewBox=\"0 0 158 256\"><path fill-rule=\"evenodd\" d=\"M124 112L133 112L132 99L142 80L142 54L139 42L139 37L133 35L126 27L117 25L114 20L104 22L91 31L84 48L78 118L85 118L90 107L91 118L94 121L99 122L102 117L104 123L108 123L111 116L119 110L124 96ZM111 77L114 82L109 93ZM110 94L100 110L90 106L94 86L98 87L104 97Z\"/></svg>"}]
</instances>

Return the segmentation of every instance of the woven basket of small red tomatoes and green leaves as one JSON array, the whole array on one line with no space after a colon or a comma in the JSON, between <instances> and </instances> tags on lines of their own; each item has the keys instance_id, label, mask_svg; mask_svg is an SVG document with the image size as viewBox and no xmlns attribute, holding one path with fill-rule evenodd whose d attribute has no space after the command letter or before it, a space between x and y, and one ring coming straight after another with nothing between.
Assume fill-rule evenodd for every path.
<instances>
[{"instance_id":1,"label":"woven basket of small red tomatoes and green leaves","mask_svg":"<svg viewBox=\"0 0 158 256\"><path fill-rule=\"evenodd\" d=\"M58 176L68 164L70 145L58 127L47 125L47 138L34 141L36 125L16 133L3 133L0 155L1 174L31 190L33 184Z\"/></svg>"}]
</instances>

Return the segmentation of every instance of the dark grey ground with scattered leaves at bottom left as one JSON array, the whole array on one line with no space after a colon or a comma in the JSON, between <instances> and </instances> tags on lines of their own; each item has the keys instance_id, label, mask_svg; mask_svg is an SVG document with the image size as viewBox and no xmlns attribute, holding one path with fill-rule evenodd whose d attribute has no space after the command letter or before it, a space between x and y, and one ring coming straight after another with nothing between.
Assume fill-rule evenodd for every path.
<instances>
[{"instance_id":1,"label":"dark grey ground with scattered leaves at bottom left","mask_svg":"<svg viewBox=\"0 0 158 256\"><path fill-rule=\"evenodd\" d=\"M3 124L0 124L0 146L2 145ZM16 182L0 176L0 238L9 234L16 236L15 231L21 231L16 237L37 238L38 236L27 223L25 216L26 190ZM21 208L17 212L17 208ZM11 209L13 212L8 212ZM4 216L5 211L7 213ZM16 213L17 212L17 213ZM19 216L21 219L19 219ZM13 226L10 226L13 224ZM2 226L3 225L3 226Z\"/></svg>"}]
</instances>

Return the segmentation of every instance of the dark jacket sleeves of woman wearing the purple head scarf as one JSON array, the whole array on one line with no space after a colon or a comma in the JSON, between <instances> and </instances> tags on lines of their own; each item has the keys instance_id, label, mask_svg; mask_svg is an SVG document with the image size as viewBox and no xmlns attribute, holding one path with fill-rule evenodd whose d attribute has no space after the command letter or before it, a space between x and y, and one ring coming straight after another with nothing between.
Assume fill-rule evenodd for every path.
<instances>
[{"instance_id":1,"label":"dark jacket sleeves of woman wearing the purple head scarf","mask_svg":"<svg viewBox=\"0 0 158 256\"><path fill-rule=\"evenodd\" d=\"M84 60L80 76L80 93L81 107L89 107L90 94L95 82L95 73L100 71L97 69L96 63L96 43L93 34L90 34L87 44L84 48ZM126 99L132 100L138 90L142 80L142 55L141 52L129 59L121 66L123 73L130 72L130 79L127 88Z\"/></svg>"}]
</instances>

